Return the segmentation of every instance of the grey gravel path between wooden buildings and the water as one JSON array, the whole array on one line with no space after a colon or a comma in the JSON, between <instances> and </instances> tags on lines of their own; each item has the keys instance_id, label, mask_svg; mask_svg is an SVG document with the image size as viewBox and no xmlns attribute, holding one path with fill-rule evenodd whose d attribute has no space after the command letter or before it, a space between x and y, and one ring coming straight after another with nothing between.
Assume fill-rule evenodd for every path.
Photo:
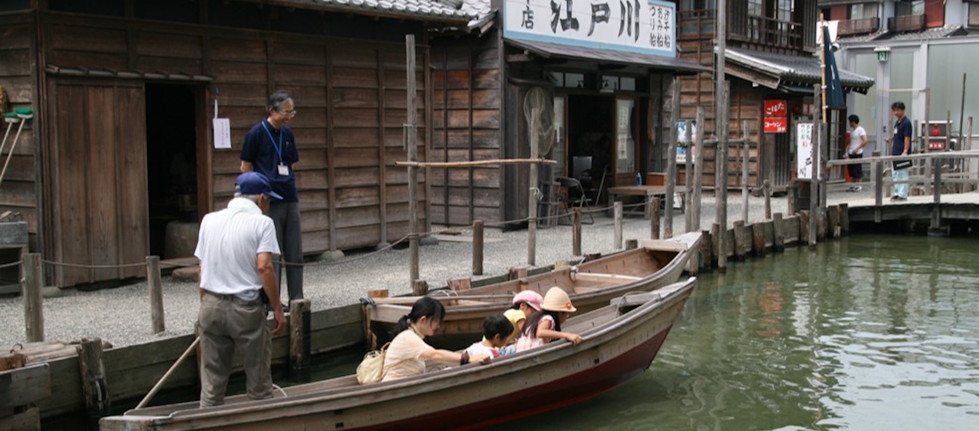
<instances>
[{"instance_id":1,"label":"grey gravel path between wooden buildings and the water","mask_svg":"<svg viewBox=\"0 0 979 431\"><path fill-rule=\"evenodd\" d=\"M830 203L847 198L866 197L868 190L858 193L832 192ZM741 218L741 195L728 197L728 226ZM774 213L786 211L785 197L772 198ZM764 199L750 198L749 223L762 220ZM704 195L701 209L701 228L714 222L716 205L713 196ZM584 217L587 221L587 216ZM684 216L674 216L674 232L683 231ZM613 248L613 220L595 215L593 224L584 224L583 253L609 253ZM433 227L438 231L438 226ZM420 250L420 276L432 287L443 286L452 277L470 276L472 269L471 229L455 228L457 236L441 236L437 245ZM649 238L649 220L627 216L623 238ZM559 260L573 261L572 229L569 225L537 229L536 263L547 265ZM366 252L350 252L346 259L363 257ZM487 276L504 273L509 267L527 262L527 230L485 230L484 273ZM408 251L388 250L350 262L312 263L305 268L305 297L312 309L324 310L350 305L366 296L369 289L386 288L392 295L411 291L408 284ZM479 277L476 277L479 278ZM47 340L74 341L101 337L115 346L125 346L193 332L197 319L198 291L194 283L174 282L163 277L163 308L166 331L153 334L146 282L82 292L65 289L55 298L44 299L44 329ZM7 349L24 341L23 306L20 297L0 298L0 348Z\"/></svg>"}]
</instances>

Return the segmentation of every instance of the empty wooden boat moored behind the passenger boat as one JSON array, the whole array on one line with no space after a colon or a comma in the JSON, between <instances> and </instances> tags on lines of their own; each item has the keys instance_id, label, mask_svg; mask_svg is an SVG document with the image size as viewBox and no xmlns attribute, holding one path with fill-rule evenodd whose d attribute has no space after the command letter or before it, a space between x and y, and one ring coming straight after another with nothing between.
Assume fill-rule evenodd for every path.
<instances>
[{"instance_id":1,"label":"empty wooden boat moored behind the passenger boat","mask_svg":"<svg viewBox=\"0 0 979 431\"><path fill-rule=\"evenodd\" d=\"M609 303L627 292L648 292L679 279L690 256L696 252L699 232L685 233L667 240L647 240L640 247L595 261L530 275L487 286L457 291L437 291L429 296L442 301L445 318L436 340L454 335L483 332L483 319L510 308L513 295L534 290L541 296L553 286L568 292L579 311L590 311ZM362 300L366 304L366 327L377 336L378 345L390 340L389 333L397 320L419 297L375 298Z\"/></svg>"}]
</instances>

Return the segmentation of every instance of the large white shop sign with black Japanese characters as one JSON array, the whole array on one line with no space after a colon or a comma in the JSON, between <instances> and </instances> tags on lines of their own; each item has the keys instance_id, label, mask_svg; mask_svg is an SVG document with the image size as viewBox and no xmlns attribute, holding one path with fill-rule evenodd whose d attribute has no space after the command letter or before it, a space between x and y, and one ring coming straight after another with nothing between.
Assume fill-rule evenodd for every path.
<instances>
[{"instance_id":1,"label":"large white shop sign with black Japanese characters","mask_svg":"<svg viewBox=\"0 0 979 431\"><path fill-rule=\"evenodd\" d=\"M676 5L659 0L503 0L503 35L676 57Z\"/></svg>"}]
</instances>

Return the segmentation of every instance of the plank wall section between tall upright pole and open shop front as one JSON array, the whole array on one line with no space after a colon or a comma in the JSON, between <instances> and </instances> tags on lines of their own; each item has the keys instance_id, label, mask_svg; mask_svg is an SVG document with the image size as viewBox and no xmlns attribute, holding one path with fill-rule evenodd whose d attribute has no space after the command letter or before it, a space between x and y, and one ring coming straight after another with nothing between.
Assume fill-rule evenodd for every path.
<instances>
[{"instance_id":1,"label":"plank wall section between tall upright pole and open shop front","mask_svg":"<svg viewBox=\"0 0 979 431\"><path fill-rule=\"evenodd\" d=\"M432 43L432 160L499 159L502 123L497 30L482 37L442 38ZM432 220L471 224L502 220L503 169L432 171Z\"/></svg>"}]
</instances>

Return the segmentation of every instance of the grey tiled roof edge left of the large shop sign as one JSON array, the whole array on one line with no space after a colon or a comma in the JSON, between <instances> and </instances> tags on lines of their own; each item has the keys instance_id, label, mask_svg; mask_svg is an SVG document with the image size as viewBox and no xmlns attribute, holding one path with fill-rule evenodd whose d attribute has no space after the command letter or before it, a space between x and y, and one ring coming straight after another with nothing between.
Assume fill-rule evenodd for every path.
<instances>
[{"instance_id":1,"label":"grey tiled roof edge left of the large shop sign","mask_svg":"<svg viewBox=\"0 0 979 431\"><path fill-rule=\"evenodd\" d=\"M476 16L463 11L463 0L282 0L298 8L346 10L352 14L403 17L424 21L469 22Z\"/></svg>"}]
</instances>

